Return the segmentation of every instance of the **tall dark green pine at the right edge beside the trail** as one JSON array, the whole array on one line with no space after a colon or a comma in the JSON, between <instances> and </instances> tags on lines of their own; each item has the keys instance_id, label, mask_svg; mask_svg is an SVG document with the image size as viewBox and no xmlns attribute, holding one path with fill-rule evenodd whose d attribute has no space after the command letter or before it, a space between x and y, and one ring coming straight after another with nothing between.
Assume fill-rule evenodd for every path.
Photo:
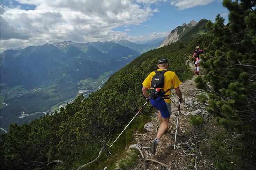
<instances>
[{"instance_id":1,"label":"tall dark green pine at the right edge beside the trail","mask_svg":"<svg viewBox=\"0 0 256 170\"><path fill-rule=\"evenodd\" d=\"M206 75L195 81L213 92L207 111L223 127L255 135L255 0L224 0L223 6L229 10L229 23L220 14L215 23L207 23L216 50L206 50Z\"/></svg>"}]
</instances>

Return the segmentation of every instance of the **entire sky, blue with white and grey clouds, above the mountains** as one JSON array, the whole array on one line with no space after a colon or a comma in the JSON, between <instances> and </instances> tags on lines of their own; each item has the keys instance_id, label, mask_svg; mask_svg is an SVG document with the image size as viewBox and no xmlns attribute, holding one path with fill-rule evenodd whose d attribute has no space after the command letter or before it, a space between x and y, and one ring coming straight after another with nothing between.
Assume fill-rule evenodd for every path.
<instances>
[{"instance_id":1,"label":"entire sky, blue with white and grey clouds, above the mountains","mask_svg":"<svg viewBox=\"0 0 256 170\"><path fill-rule=\"evenodd\" d=\"M228 10L220 0L1 0L1 52L59 41L147 41Z\"/></svg>"}]
</instances>

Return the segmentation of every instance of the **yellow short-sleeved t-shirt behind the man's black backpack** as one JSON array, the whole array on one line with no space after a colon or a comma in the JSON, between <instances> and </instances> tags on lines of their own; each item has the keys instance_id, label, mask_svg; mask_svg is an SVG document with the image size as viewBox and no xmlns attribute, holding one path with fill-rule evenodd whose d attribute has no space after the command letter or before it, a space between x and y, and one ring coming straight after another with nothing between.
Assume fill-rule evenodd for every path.
<instances>
[{"instance_id":1,"label":"yellow short-sleeved t-shirt behind the man's black backpack","mask_svg":"<svg viewBox=\"0 0 256 170\"><path fill-rule=\"evenodd\" d=\"M162 71L162 70L166 70L166 69L157 69L157 71ZM144 80L144 82L142 83L143 86L145 86L146 88L150 88L151 86L151 80L152 77L156 74L155 71L152 71L148 77ZM164 91L166 92L168 89L170 89L171 87L173 88L177 88L179 87L179 85L181 85L181 82L179 80L179 78L177 77L177 75L172 72L172 71L166 71L164 73ZM165 95L171 95L171 90L169 90L168 92L165 93ZM171 103L170 99L164 99L167 103Z\"/></svg>"}]
</instances>

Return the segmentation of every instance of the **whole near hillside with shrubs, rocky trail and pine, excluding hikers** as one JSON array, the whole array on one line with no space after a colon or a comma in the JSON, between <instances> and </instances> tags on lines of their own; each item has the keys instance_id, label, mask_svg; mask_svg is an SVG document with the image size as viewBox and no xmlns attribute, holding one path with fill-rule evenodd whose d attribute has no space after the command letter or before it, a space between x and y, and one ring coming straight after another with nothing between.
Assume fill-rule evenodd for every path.
<instances>
[{"instance_id":1,"label":"whole near hillside with shrubs, rocky trail and pine, excluding hikers","mask_svg":"<svg viewBox=\"0 0 256 170\"><path fill-rule=\"evenodd\" d=\"M230 23L225 25L224 18L217 15L216 23L206 24L212 34L144 53L88 98L79 95L60 112L30 124L10 125L9 132L1 135L1 168L255 169L255 2L227 0L223 5L230 10ZM192 80L184 81L192 78L189 54L196 45L205 49L200 56L205 76L194 77L195 88ZM184 96L191 99L182 105L175 152L171 143L175 125L171 125L155 156L145 151L146 157L139 158L138 145L126 153L125 148L137 142L147 150L148 140L155 136L157 121L151 117L156 109L150 104L109 148L146 102L141 83L157 69L161 57L167 57L168 69L180 78ZM174 99L172 104L176 102ZM192 112L197 115L201 111L205 117L192 116ZM176 109L172 112L175 114ZM175 123L174 114L170 124ZM151 120L156 129L144 134L144 125Z\"/></svg>"}]
</instances>

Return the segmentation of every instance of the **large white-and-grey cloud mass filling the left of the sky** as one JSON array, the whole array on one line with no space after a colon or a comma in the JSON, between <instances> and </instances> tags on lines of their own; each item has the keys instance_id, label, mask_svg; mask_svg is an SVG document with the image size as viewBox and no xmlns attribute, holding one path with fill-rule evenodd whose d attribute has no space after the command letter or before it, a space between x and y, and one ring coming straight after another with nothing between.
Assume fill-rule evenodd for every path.
<instances>
[{"instance_id":1,"label":"large white-and-grey cloud mass filling the left of the sky","mask_svg":"<svg viewBox=\"0 0 256 170\"><path fill-rule=\"evenodd\" d=\"M24 10L1 5L1 52L15 46L64 40L92 42L126 39L125 32L112 29L141 24L159 12L150 7L159 0L16 1L36 7L34 10Z\"/></svg>"}]
</instances>

